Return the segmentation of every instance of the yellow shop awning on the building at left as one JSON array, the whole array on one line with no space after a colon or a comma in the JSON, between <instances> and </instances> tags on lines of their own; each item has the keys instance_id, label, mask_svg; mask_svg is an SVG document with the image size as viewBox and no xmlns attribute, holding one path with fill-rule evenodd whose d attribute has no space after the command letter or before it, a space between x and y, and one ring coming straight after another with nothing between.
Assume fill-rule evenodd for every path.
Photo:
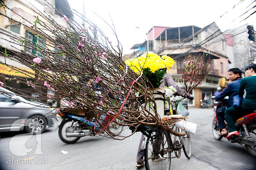
<instances>
[{"instance_id":1,"label":"yellow shop awning on the building at left","mask_svg":"<svg viewBox=\"0 0 256 170\"><path fill-rule=\"evenodd\" d=\"M10 68L6 65L14 66L17 69ZM30 68L26 67L25 65L22 65L21 63L4 58L3 56L0 56L0 73L7 74L10 76L17 76L17 77L34 77L35 78L35 71L31 70ZM29 74L30 73L30 74Z\"/></svg>"}]
</instances>

